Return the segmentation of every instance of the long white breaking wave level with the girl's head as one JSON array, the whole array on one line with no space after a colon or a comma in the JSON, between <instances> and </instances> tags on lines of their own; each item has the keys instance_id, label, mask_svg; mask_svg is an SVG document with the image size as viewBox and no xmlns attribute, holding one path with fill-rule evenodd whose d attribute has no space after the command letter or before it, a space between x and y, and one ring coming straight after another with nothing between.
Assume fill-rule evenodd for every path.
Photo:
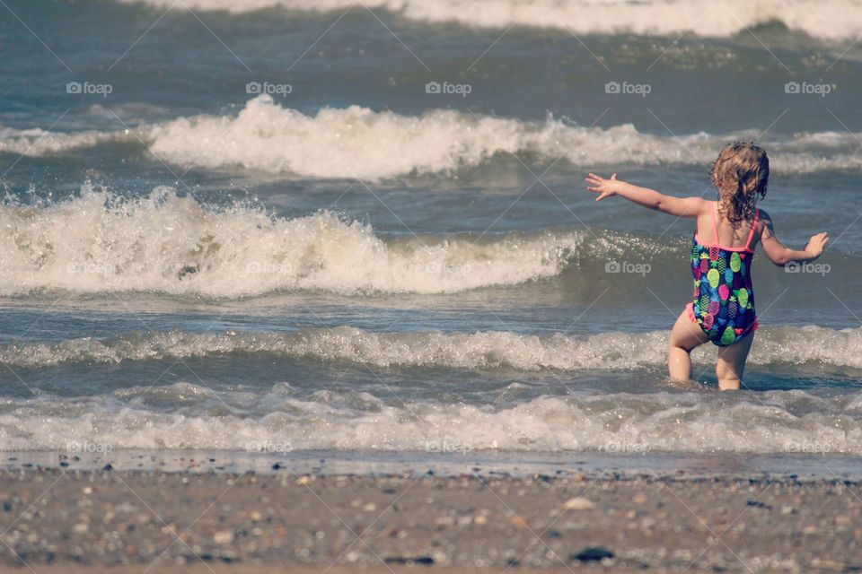
<instances>
[{"instance_id":1,"label":"long white breaking wave level with the girl's head","mask_svg":"<svg viewBox=\"0 0 862 574\"><path fill-rule=\"evenodd\" d=\"M630 124L584 127L553 117L524 121L452 109L412 117L350 106L306 115L262 95L249 100L236 116L178 117L119 132L63 134L3 128L0 152L44 157L105 143L141 142L160 161L185 167L377 180L451 174L510 155L543 161L562 158L583 168L706 165L728 141L756 135L652 135ZM856 134L802 133L764 143L770 150L771 167L778 173L862 169L862 157L853 152L858 146Z\"/></svg>"}]
</instances>

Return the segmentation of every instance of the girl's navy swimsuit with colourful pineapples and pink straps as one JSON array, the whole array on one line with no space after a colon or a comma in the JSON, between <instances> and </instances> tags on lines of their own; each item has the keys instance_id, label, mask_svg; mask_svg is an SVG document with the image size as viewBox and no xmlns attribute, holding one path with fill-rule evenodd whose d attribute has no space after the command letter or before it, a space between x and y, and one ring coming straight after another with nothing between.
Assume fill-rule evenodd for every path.
<instances>
[{"instance_id":1,"label":"girl's navy swimsuit with colourful pineapples and pink straps","mask_svg":"<svg viewBox=\"0 0 862 574\"><path fill-rule=\"evenodd\" d=\"M751 247L759 215L754 215L752 232L744 248L720 245L715 209L712 211L715 242L712 245L700 244L697 232L691 239L694 300L686 309L691 320L720 347L734 344L757 329L752 289L754 249Z\"/></svg>"}]
</instances>

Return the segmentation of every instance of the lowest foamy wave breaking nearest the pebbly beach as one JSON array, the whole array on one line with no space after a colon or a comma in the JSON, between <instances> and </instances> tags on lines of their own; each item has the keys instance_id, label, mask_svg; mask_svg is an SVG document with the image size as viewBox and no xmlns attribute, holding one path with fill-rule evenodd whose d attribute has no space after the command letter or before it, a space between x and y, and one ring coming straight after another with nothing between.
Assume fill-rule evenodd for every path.
<instances>
[{"instance_id":1,"label":"lowest foamy wave breaking nearest the pebbly beach","mask_svg":"<svg viewBox=\"0 0 862 574\"><path fill-rule=\"evenodd\" d=\"M172 412L142 402L180 399ZM540 396L520 404L386 404L367 393L258 396L179 383L69 401L5 404L0 450L84 448L507 452L862 454L862 395L802 391ZM212 415L214 410L232 413ZM262 411L251 413L250 409ZM62 413L58 415L57 413ZM50 422L49 424L47 422Z\"/></svg>"}]
</instances>

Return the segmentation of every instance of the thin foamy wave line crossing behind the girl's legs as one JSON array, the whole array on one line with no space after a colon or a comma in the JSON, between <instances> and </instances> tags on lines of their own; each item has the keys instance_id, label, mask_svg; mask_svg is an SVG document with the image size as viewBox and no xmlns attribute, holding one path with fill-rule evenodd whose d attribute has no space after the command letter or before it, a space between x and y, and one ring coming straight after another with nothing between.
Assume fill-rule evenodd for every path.
<instances>
[{"instance_id":1,"label":"thin foamy wave line crossing behind the girl's legs","mask_svg":"<svg viewBox=\"0 0 862 574\"><path fill-rule=\"evenodd\" d=\"M106 340L86 337L60 343L9 344L0 347L0 361L39 369L62 363L119 364L242 353L289 360L343 361L377 368L630 370L664 366L666 347L666 331L540 336L507 331L374 333L340 326L294 333L170 331ZM713 360L713 355L711 346L701 347L693 358L707 362ZM761 328L749 363L862 369L862 327Z\"/></svg>"}]
</instances>

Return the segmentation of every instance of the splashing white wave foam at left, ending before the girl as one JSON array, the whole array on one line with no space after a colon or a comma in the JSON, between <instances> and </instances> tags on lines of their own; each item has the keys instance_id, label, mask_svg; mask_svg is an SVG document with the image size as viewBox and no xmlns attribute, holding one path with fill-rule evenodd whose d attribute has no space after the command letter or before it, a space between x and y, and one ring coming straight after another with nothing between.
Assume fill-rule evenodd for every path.
<instances>
[{"instance_id":1,"label":"splashing white wave foam at left, ending before the girl","mask_svg":"<svg viewBox=\"0 0 862 574\"><path fill-rule=\"evenodd\" d=\"M584 238L384 241L328 212L288 220L243 206L210 209L169 188L121 201L85 186L81 197L47 207L0 206L0 293L445 293L557 275Z\"/></svg>"}]
</instances>

